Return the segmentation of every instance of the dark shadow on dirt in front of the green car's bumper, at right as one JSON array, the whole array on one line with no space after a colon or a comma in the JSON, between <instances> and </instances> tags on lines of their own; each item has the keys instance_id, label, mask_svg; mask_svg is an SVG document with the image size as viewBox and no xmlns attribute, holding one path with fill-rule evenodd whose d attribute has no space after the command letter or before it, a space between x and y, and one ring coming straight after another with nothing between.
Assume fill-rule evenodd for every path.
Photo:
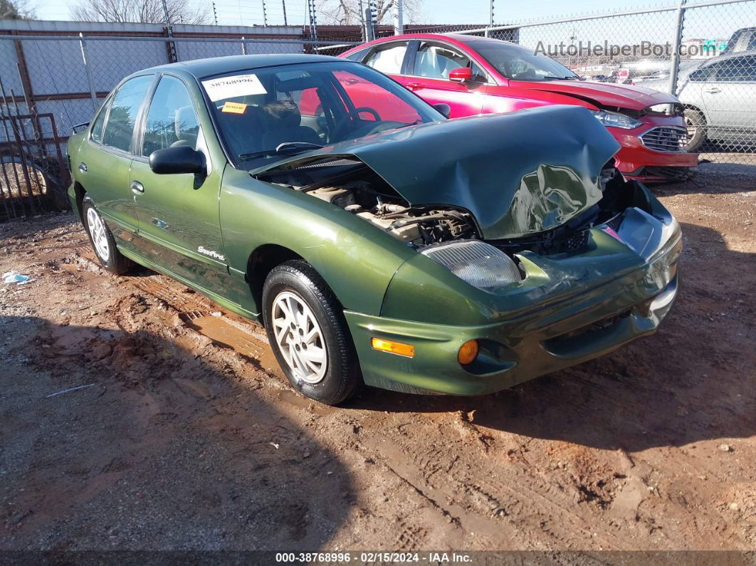
<instances>
[{"instance_id":1,"label":"dark shadow on dirt in front of the green car's bumper, at right","mask_svg":"<svg viewBox=\"0 0 756 566\"><path fill-rule=\"evenodd\" d=\"M487 397L368 389L352 407L462 410L474 424L608 450L680 446L756 434L756 254L715 230L683 225L677 305L654 336Z\"/></svg>"}]
</instances>

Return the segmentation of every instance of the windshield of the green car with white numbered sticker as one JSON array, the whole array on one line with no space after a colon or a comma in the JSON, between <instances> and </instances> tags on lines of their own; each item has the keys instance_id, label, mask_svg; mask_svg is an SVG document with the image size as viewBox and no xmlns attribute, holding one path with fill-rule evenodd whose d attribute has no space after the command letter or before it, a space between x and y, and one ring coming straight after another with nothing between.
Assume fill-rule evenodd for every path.
<instances>
[{"instance_id":1,"label":"windshield of the green car with white numbered sticker","mask_svg":"<svg viewBox=\"0 0 756 566\"><path fill-rule=\"evenodd\" d=\"M358 63L299 63L203 79L221 137L242 169L327 144L445 119Z\"/></svg>"}]
</instances>

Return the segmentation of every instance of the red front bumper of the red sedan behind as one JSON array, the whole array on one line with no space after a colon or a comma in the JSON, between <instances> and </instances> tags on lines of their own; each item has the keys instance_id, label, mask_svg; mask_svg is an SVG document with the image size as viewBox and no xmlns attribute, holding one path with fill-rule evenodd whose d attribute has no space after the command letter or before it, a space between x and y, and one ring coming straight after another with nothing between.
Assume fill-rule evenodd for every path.
<instances>
[{"instance_id":1,"label":"red front bumper of the red sedan behind","mask_svg":"<svg viewBox=\"0 0 756 566\"><path fill-rule=\"evenodd\" d=\"M635 181L664 182L679 177L699 164L698 153L686 151L659 151L643 145L640 136L652 128L664 126L683 127L683 119L677 116L651 116L634 130L607 128L621 145L615 166L627 179Z\"/></svg>"}]
</instances>

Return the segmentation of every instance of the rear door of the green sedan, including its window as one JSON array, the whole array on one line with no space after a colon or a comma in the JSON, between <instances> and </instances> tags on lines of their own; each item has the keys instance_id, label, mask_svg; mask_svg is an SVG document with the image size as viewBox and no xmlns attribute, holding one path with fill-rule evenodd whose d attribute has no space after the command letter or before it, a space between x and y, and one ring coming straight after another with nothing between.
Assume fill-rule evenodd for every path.
<instances>
[{"instance_id":1,"label":"rear door of the green sedan, including its window","mask_svg":"<svg viewBox=\"0 0 756 566\"><path fill-rule=\"evenodd\" d=\"M110 231L126 248L132 247L130 234L138 226L129 190L132 140L153 80L152 74L137 76L119 86L92 122L88 140L79 150L79 162L72 164Z\"/></svg>"}]
</instances>

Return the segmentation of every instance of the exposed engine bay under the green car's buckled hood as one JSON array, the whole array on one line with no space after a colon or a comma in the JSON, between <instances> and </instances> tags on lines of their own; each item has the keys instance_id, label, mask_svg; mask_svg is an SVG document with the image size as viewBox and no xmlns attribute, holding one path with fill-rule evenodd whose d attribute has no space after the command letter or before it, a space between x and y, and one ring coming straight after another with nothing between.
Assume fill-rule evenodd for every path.
<instances>
[{"instance_id":1,"label":"exposed engine bay under the green car's buckled hood","mask_svg":"<svg viewBox=\"0 0 756 566\"><path fill-rule=\"evenodd\" d=\"M476 218L453 206L411 206L386 181L358 159L330 159L261 175L265 181L301 190L363 218L408 246L423 248L452 240L484 240ZM642 192L624 181L609 162L600 172L603 198L564 224L538 234L506 240L485 240L507 255L527 249L539 255L584 251L589 230L621 222L621 214Z\"/></svg>"}]
</instances>

